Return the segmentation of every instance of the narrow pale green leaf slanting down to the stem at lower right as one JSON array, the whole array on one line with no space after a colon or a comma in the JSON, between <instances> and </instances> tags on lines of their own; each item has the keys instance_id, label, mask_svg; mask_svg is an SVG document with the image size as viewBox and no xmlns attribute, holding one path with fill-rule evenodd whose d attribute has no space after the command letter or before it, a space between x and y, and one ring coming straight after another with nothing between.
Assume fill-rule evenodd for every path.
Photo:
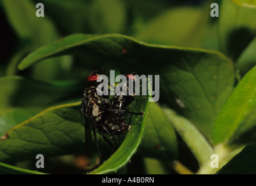
<instances>
[{"instance_id":1,"label":"narrow pale green leaf slanting down to the stem at lower right","mask_svg":"<svg viewBox=\"0 0 256 186\"><path fill-rule=\"evenodd\" d=\"M212 155L214 151L212 146L191 121L177 115L177 113L168 108L163 108L163 112L165 112L168 120L173 124L183 141L189 146L190 151L201 166Z\"/></svg>"}]
</instances>

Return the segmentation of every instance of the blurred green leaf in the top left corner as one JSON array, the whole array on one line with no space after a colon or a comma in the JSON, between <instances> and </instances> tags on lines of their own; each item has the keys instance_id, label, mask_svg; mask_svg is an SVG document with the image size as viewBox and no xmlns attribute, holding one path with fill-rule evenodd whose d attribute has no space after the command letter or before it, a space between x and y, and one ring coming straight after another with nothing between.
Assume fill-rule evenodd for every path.
<instances>
[{"instance_id":1,"label":"blurred green leaf in the top left corner","mask_svg":"<svg viewBox=\"0 0 256 186\"><path fill-rule=\"evenodd\" d=\"M3 6L9 22L20 38L31 40L37 46L58 38L54 24L48 17L37 17L37 8L31 1L3 0Z\"/></svg>"}]
</instances>

